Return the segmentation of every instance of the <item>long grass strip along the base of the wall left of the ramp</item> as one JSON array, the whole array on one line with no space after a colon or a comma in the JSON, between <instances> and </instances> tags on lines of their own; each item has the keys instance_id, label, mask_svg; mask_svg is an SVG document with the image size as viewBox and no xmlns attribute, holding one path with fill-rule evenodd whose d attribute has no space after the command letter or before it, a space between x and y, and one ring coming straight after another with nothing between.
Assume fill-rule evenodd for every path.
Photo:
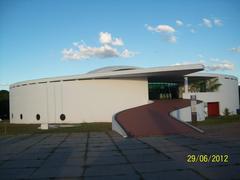
<instances>
[{"instance_id":1,"label":"long grass strip along the base of the wall left of the ramp","mask_svg":"<svg viewBox=\"0 0 240 180\"><path fill-rule=\"evenodd\" d=\"M112 123L81 123L74 127L58 127L48 130L38 129L39 124L9 124L0 123L1 135L36 134L36 133L75 133L75 132L104 132L112 129Z\"/></svg>"}]
</instances>

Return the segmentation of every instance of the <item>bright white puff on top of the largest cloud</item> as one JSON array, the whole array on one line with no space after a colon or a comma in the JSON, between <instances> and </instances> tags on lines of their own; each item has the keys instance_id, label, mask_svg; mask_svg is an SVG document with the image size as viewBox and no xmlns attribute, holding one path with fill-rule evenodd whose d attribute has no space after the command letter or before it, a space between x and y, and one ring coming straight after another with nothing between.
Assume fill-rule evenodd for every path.
<instances>
[{"instance_id":1,"label":"bright white puff on top of the largest cloud","mask_svg":"<svg viewBox=\"0 0 240 180\"><path fill-rule=\"evenodd\" d=\"M108 32L99 33L99 41L101 44L111 44L114 46L123 46L123 41L121 38L112 38L112 35Z\"/></svg>"}]
</instances>

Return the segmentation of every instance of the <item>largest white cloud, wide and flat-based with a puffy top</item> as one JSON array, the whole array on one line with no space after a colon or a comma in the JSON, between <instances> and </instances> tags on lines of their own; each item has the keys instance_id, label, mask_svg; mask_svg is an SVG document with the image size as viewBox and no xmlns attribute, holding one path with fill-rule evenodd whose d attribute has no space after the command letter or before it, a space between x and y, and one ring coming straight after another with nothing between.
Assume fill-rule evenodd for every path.
<instances>
[{"instance_id":1,"label":"largest white cloud, wide and flat-based with a puffy top","mask_svg":"<svg viewBox=\"0 0 240 180\"><path fill-rule=\"evenodd\" d=\"M120 38L113 39L111 34L108 32L99 33L100 47L87 46L85 43L74 42L73 48L65 48L62 51L63 58L69 60L82 60L89 58L112 58L122 57L130 58L135 56L137 53L124 49L119 51L114 46L122 46L123 41Z\"/></svg>"}]
</instances>

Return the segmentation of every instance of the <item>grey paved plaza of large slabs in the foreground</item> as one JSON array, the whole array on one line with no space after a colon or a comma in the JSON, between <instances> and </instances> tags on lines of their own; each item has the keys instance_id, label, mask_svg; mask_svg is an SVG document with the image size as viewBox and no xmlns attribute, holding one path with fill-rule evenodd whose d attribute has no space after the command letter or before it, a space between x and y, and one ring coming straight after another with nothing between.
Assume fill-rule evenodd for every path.
<instances>
[{"instance_id":1,"label":"grey paved plaza of large slabs in the foreground","mask_svg":"<svg viewBox=\"0 0 240 180\"><path fill-rule=\"evenodd\" d=\"M187 162L187 155L228 162ZM0 137L0 179L240 179L239 137L122 138L114 132Z\"/></svg>"}]
</instances>

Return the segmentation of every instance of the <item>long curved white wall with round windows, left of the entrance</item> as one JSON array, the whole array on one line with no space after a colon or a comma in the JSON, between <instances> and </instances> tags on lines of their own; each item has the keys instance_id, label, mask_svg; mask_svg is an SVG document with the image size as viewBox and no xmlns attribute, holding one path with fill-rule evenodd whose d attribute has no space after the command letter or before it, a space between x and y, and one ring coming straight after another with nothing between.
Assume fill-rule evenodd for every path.
<instances>
[{"instance_id":1,"label":"long curved white wall with round windows, left of the entrance","mask_svg":"<svg viewBox=\"0 0 240 180\"><path fill-rule=\"evenodd\" d=\"M11 123L111 122L116 112L148 103L147 79L47 82L10 89ZM23 119L20 119L20 114ZM40 120L36 120L40 114ZM60 120L65 114L66 119ZM13 118L12 118L13 115Z\"/></svg>"}]
</instances>

